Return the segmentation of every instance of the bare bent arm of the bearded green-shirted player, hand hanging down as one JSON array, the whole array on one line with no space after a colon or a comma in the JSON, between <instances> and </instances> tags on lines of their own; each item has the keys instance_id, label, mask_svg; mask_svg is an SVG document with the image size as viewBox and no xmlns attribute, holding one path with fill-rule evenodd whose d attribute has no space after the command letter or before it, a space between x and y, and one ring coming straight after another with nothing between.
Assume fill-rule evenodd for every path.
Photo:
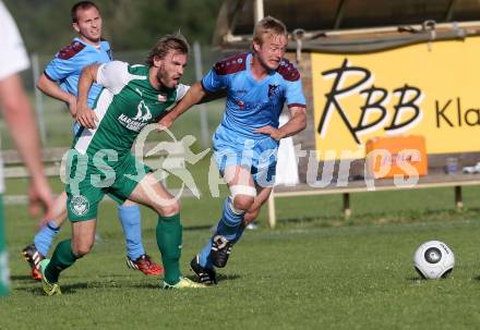
<instances>
[{"instance_id":1,"label":"bare bent arm of the bearded green-shirted player, hand hanging down","mask_svg":"<svg viewBox=\"0 0 480 330\"><path fill-rule=\"evenodd\" d=\"M95 129L95 122L98 118L91 108L88 108L88 90L97 78L100 64L85 66L79 80L79 97L76 100L76 121L84 127Z\"/></svg>"}]
</instances>

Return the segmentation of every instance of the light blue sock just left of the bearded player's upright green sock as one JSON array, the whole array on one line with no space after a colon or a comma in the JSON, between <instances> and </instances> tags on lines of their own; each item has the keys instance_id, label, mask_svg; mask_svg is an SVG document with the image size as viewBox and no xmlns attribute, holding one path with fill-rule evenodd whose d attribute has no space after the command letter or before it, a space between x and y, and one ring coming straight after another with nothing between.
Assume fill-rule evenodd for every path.
<instances>
[{"instance_id":1,"label":"light blue sock just left of the bearded player's upright green sock","mask_svg":"<svg viewBox=\"0 0 480 330\"><path fill-rule=\"evenodd\" d=\"M145 254L142 245L142 227L140 224L140 206L119 206L118 218L123 228L127 242L127 255L136 260Z\"/></svg>"}]
</instances>

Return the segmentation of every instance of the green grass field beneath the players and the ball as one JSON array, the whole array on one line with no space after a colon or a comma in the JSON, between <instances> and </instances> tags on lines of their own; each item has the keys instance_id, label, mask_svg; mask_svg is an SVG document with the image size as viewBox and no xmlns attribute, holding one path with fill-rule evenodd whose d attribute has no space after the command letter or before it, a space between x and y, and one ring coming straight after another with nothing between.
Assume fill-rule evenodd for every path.
<instances>
[{"instance_id":1,"label":"green grass field beneath the players and the ball","mask_svg":"<svg viewBox=\"0 0 480 330\"><path fill-rule=\"evenodd\" d=\"M194 176L205 186L206 163ZM203 178L203 179L202 179ZM60 184L56 184L56 190ZM23 182L9 182L12 193ZM211 235L220 200L182 200L182 268ZM97 242L61 278L64 294L46 297L28 277L20 250L35 230L24 207L8 206L11 295L0 301L0 329L476 329L480 322L479 188L465 190L469 207L454 210L452 190L352 196L345 221L339 196L286 198L279 224L249 231L215 288L163 291L160 279L124 266L124 244L113 204L100 207ZM147 252L159 259L156 217L143 212ZM67 227L59 240L68 237ZM417 246L445 241L456 267L447 280L420 280ZM36 322L34 322L36 320Z\"/></svg>"}]
</instances>

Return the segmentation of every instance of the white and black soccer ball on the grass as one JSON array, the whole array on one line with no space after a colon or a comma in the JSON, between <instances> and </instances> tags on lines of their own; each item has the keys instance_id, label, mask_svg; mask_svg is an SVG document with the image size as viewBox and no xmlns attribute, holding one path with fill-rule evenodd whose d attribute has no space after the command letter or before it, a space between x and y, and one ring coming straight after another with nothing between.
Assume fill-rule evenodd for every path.
<instances>
[{"instance_id":1,"label":"white and black soccer ball on the grass","mask_svg":"<svg viewBox=\"0 0 480 330\"><path fill-rule=\"evenodd\" d=\"M445 279L454 269L454 253L443 242L423 243L415 252L415 269L424 279Z\"/></svg>"}]
</instances>

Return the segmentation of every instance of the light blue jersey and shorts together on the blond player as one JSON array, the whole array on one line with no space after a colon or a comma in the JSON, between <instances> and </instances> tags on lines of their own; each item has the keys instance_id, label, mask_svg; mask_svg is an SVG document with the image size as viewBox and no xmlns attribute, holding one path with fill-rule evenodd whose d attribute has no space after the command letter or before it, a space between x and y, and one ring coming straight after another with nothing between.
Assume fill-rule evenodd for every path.
<instances>
[{"instance_id":1,"label":"light blue jersey and shorts together on the blond player","mask_svg":"<svg viewBox=\"0 0 480 330\"><path fill-rule=\"evenodd\" d=\"M256 81L250 71L252 53L223 60L202 80L206 91L227 90L227 105L213 137L214 156L220 172L229 166L250 168L255 182L272 185L278 142L256 129L278 129L284 106L305 107L300 73L284 59L276 71Z\"/></svg>"}]
</instances>

